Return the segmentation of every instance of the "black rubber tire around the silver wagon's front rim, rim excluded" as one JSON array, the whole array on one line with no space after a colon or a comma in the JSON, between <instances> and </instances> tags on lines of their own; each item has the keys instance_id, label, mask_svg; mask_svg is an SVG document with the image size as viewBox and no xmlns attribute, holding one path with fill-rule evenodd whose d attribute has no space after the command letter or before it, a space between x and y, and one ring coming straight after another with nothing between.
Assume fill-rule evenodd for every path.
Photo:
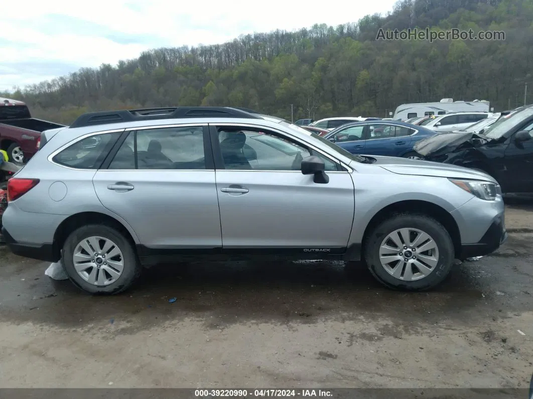
<instances>
[{"instance_id":1,"label":"black rubber tire around the silver wagon's front rim, rim excluded","mask_svg":"<svg viewBox=\"0 0 533 399\"><path fill-rule=\"evenodd\" d=\"M418 229L429 234L439 250L437 265L429 275L422 279L414 281L397 279L385 270L379 260L379 247L382 241L388 234L403 228ZM421 214L393 215L370 232L364 246L365 260L370 273L384 286L391 289L423 291L434 288L446 279L454 265L454 245L448 231L435 219Z\"/></svg>"}]
</instances>

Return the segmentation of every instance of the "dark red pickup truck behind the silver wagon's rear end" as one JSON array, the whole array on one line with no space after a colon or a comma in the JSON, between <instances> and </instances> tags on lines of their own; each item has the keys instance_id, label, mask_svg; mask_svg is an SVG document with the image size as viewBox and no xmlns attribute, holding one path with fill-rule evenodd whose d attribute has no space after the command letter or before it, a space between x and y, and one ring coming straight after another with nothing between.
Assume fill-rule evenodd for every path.
<instances>
[{"instance_id":1,"label":"dark red pickup truck behind the silver wagon's rear end","mask_svg":"<svg viewBox=\"0 0 533 399\"><path fill-rule=\"evenodd\" d=\"M26 162L39 149L41 132L59 127L65 126L32 118L22 101L0 97L0 150L11 162Z\"/></svg>"}]
</instances>

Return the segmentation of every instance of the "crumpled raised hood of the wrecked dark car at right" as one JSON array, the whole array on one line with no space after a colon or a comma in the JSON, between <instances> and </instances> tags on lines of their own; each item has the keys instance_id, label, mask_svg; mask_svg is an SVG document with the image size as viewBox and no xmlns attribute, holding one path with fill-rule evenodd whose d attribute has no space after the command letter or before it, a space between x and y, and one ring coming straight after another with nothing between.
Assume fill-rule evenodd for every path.
<instances>
[{"instance_id":1,"label":"crumpled raised hood of the wrecked dark car at right","mask_svg":"<svg viewBox=\"0 0 533 399\"><path fill-rule=\"evenodd\" d=\"M475 140L475 142L474 142ZM439 156L454 151L464 143L484 144L488 139L475 132L439 133L418 141L413 149L424 157Z\"/></svg>"}]
</instances>

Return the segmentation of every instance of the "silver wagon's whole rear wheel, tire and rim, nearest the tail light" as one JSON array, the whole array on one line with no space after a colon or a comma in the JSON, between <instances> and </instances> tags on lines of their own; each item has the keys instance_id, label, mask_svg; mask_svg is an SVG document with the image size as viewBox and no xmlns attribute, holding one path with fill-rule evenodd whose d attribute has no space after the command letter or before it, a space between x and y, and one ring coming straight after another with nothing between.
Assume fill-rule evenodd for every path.
<instances>
[{"instance_id":1,"label":"silver wagon's whole rear wheel, tire and rim, nearest the tail light","mask_svg":"<svg viewBox=\"0 0 533 399\"><path fill-rule=\"evenodd\" d=\"M69 279L90 294L119 294L141 273L130 240L106 225L73 231L64 243L62 259Z\"/></svg>"}]
</instances>

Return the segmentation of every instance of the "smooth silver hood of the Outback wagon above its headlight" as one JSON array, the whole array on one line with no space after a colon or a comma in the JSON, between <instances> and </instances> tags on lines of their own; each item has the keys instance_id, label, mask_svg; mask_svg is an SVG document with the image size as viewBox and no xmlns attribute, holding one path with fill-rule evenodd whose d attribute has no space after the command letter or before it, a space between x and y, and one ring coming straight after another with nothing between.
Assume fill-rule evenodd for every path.
<instances>
[{"instance_id":1,"label":"smooth silver hood of the Outback wagon above its headlight","mask_svg":"<svg viewBox=\"0 0 533 399\"><path fill-rule=\"evenodd\" d=\"M464 178L472 180L496 181L483 172L462 166L441 164L409 158L369 156L376 159L374 165L399 175L433 176L446 178Z\"/></svg>"}]
</instances>

